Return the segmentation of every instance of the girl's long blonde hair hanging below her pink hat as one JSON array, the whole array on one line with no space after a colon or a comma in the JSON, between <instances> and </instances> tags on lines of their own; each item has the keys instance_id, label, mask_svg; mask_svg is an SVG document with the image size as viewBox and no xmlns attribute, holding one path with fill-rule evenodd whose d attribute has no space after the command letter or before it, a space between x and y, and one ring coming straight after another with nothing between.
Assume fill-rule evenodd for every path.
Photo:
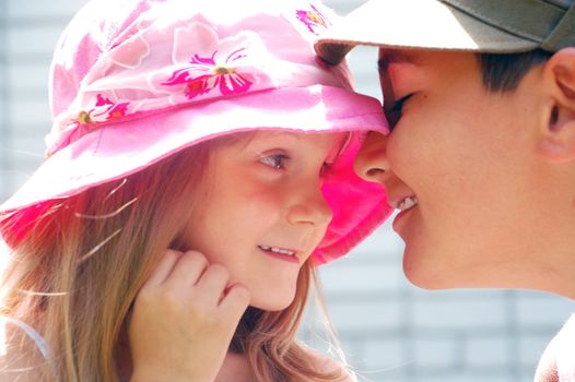
<instances>
[{"instance_id":1,"label":"girl's long blonde hair hanging below her pink hat","mask_svg":"<svg viewBox=\"0 0 575 382\"><path fill-rule=\"evenodd\" d=\"M0 314L44 336L49 357L38 366L42 380L112 382L125 377L117 360L130 307L164 251L181 249L187 223L201 204L195 190L216 141L49 202L28 227L2 274ZM288 309L249 308L240 321L231 350L247 356L258 382L341 378L341 371L317 371L317 362L295 339L314 279L306 264ZM8 345L9 351L25 356L17 343Z\"/></svg>"}]
</instances>

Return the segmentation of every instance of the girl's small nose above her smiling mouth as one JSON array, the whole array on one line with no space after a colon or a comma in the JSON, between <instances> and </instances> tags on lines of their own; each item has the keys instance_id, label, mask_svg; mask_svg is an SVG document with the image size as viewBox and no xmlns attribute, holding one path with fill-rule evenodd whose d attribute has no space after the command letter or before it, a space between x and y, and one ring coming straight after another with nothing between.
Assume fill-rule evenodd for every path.
<instances>
[{"instance_id":1,"label":"girl's small nose above her smiling mouth","mask_svg":"<svg viewBox=\"0 0 575 382\"><path fill-rule=\"evenodd\" d=\"M319 183L298 188L288 213L290 224L308 224L317 228L327 228L333 212L326 201Z\"/></svg>"}]
</instances>

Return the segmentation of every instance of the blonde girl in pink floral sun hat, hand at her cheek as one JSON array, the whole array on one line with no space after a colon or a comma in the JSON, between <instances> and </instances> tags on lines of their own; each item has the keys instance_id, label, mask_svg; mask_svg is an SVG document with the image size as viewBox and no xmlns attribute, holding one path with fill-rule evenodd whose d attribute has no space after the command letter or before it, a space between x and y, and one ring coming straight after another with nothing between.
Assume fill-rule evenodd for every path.
<instances>
[{"instance_id":1,"label":"blonde girl in pink floral sun hat, hand at her cheek","mask_svg":"<svg viewBox=\"0 0 575 382\"><path fill-rule=\"evenodd\" d=\"M47 159L0 207L1 377L345 381L295 339L314 266L389 213L387 127L326 69L319 3L98 0L51 68Z\"/></svg>"}]
</instances>

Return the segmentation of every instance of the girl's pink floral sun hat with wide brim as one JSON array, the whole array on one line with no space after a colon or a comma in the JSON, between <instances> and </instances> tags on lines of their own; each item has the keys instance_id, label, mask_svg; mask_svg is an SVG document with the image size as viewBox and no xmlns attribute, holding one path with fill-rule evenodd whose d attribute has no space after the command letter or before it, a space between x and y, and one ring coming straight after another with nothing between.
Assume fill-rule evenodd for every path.
<instances>
[{"instance_id":1,"label":"girl's pink floral sun hat with wide brim","mask_svg":"<svg viewBox=\"0 0 575 382\"><path fill-rule=\"evenodd\" d=\"M54 56L47 159L0 206L15 244L44 208L200 141L254 129L354 131L324 192L333 210L316 263L344 254L390 213L353 172L361 131L387 132L376 99L325 67L316 36L336 15L314 1L97 0Z\"/></svg>"}]
</instances>

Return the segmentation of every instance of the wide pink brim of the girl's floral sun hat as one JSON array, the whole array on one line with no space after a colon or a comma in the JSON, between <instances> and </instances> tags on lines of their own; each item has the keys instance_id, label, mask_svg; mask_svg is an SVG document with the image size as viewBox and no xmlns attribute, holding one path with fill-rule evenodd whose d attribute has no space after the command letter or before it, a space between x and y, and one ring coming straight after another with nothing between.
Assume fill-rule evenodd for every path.
<instances>
[{"instance_id":1,"label":"wide pink brim of the girl's floral sun hat","mask_svg":"<svg viewBox=\"0 0 575 382\"><path fill-rule=\"evenodd\" d=\"M261 129L294 132L387 132L380 104L339 87L309 86L257 92L242 97L181 107L146 118L102 126L49 157L28 181L0 206L9 244L37 217L43 202L64 199L87 188L121 179L199 142ZM359 144L355 144L355 151ZM353 170L352 157L349 169ZM316 262L344 254L389 215L376 184L347 174L343 189L328 202L338 210ZM353 178L355 177L355 178ZM338 205L356 205L347 211ZM26 217L28 215L28 217ZM8 216L8 218L5 218ZM9 224L7 220L11 220ZM352 223L350 223L352 222Z\"/></svg>"}]
</instances>

